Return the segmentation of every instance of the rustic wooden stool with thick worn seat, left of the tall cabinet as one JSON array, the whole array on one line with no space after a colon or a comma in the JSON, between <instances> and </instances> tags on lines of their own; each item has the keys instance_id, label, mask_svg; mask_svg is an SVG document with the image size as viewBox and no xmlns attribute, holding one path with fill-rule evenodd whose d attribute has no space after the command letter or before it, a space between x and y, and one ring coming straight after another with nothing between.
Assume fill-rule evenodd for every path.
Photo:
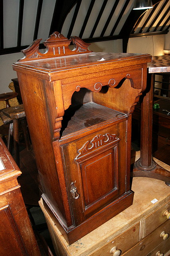
<instances>
[{"instance_id":1,"label":"rustic wooden stool with thick worn seat, left of the tall cabinet","mask_svg":"<svg viewBox=\"0 0 170 256\"><path fill-rule=\"evenodd\" d=\"M4 116L2 115L4 114ZM5 119L5 116L7 117ZM20 166L20 150L19 150L19 120L21 120L21 125L23 129L23 136L25 139L25 145L27 150L30 150L30 140L29 133L27 130L27 123L25 119L25 110L23 108L23 104L4 108L1 113L3 122L11 122L13 125L10 125L9 133L8 133L8 148L10 148L10 140L13 134L14 136L14 158L18 166ZM11 120L8 120L8 118Z\"/></svg>"}]
</instances>

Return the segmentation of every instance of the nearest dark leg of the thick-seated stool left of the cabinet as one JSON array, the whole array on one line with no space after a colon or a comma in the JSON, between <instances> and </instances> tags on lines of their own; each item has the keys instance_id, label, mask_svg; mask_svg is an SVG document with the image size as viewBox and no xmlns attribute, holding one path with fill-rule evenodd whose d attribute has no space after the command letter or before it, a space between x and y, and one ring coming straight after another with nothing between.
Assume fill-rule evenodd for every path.
<instances>
[{"instance_id":1,"label":"nearest dark leg of the thick-seated stool left of the cabinet","mask_svg":"<svg viewBox=\"0 0 170 256\"><path fill-rule=\"evenodd\" d=\"M19 122L18 119L13 120L14 123L14 158L20 167L20 150L19 150Z\"/></svg>"}]
</instances>

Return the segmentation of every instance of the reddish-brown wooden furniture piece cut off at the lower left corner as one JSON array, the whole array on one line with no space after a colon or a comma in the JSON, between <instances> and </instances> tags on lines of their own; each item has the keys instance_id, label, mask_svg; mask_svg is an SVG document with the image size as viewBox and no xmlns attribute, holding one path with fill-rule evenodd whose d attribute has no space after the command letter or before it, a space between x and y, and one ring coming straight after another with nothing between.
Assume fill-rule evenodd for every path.
<instances>
[{"instance_id":1,"label":"reddish-brown wooden furniture piece cut off at the lower left corner","mask_svg":"<svg viewBox=\"0 0 170 256\"><path fill-rule=\"evenodd\" d=\"M17 177L21 171L0 139L0 255L40 256Z\"/></svg>"}]
</instances>

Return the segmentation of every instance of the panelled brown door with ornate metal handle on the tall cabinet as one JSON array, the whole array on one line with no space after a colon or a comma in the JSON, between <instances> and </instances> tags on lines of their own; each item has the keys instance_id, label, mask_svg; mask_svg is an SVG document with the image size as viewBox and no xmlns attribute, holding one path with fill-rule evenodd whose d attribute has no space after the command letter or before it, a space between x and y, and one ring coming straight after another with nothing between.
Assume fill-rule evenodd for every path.
<instances>
[{"instance_id":1,"label":"panelled brown door with ornate metal handle on the tall cabinet","mask_svg":"<svg viewBox=\"0 0 170 256\"><path fill-rule=\"evenodd\" d=\"M126 124L120 122L61 145L75 224L111 205L125 193Z\"/></svg>"}]
</instances>

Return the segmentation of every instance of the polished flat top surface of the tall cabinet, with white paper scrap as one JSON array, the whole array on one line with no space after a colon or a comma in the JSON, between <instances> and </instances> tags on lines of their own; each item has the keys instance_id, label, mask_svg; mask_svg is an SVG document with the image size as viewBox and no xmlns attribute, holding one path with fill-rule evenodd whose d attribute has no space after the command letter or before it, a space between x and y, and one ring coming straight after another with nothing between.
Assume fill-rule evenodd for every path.
<instances>
[{"instance_id":1,"label":"polished flat top surface of the tall cabinet, with white paper scrap","mask_svg":"<svg viewBox=\"0 0 170 256\"><path fill-rule=\"evenodd\" d=\"M38 60L23 61L21 63L16 62L13 66L20 66L22 68L31 68L31 70L41 70L46 72L57 72L59 70L78 68L81 66L91 66L94 64L103 64L112 62L117 68L120 62L139 60L140 63L146 63L147 57L151 57L149 54L133 54L133 53L106 53L106 52L91 52L87 54L78 54L71 56L62 56L55 58L46 58ZM149 60L150 61L150 60ZM132 63L131 63L132 65Z\"/></svg>"}]
</instances>

